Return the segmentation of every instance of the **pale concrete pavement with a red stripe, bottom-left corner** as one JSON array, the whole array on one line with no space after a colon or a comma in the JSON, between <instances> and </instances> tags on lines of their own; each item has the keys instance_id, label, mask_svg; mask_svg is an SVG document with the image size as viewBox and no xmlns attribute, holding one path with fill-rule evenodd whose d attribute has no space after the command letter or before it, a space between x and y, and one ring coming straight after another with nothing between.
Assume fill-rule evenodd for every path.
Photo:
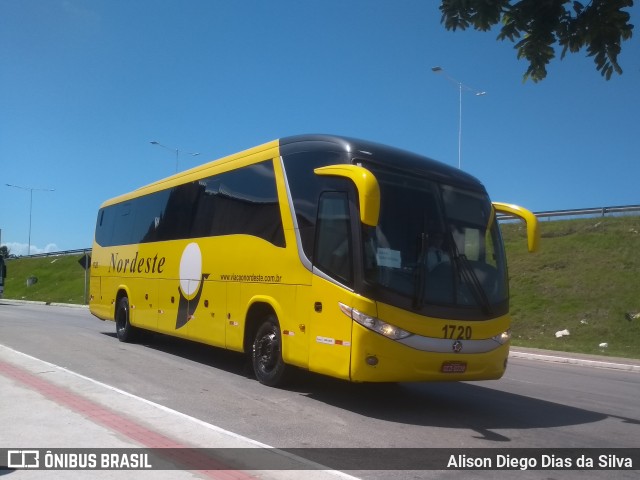
<instances>
[{"instance_id":1,"label":"pale concrete pavement with a red stripe, bottom-left corner","mask_svg":"<svg viewBox=\"0 0 640 480\"><path fill-rule=\"evenodd\" d=\"M158 480L296 480L300 478L299 470L304 470L304 476L309 480L358 480L349 473L331 470L287 450L225 430L1 344L0 388L3 398L12 406L10 409L0 410L3 425L3 435L0 438L2 449L25 445L30 449L167 449L169 453L164 456L165 460L174 466L178 461L175 469L154 470L152 477L142 477ZM15 445L9 444L9 441L15 442ZM198 460L207 460L198 457L197 452L188 452L189 449L200 448L227 450L232 455L234 450L244 455L244 450L263 449L272 457L269 460L266 456L264 465L281 465L284 469L245 471L238 466L224 468L225 460L222 457L213 458L211 470L191 467L194 459L196 464ZM187 453L182 456L172 453L183 449ZM256 458L258 462L261 457ZM242 457L235 458L238 459L241 460ZM255 467L257 464L249 462L248 465ZM53 470L56 470L53 478L64 479L93 478L94 475L99 475L99 478L120 480L138 478L143 474L139 470L128 471L126 468L100 471L99 474L74 469L66 471L65 468ZM12 478L14 474L16 478L39 478L37 474L42 477L51 475L50 472L41 474L41 471L37 471L34 472L35 476L31 476L32 472L22 468L8 472L12 473ZM3 474L5 471L0 471L0 476Z\"/></svg>"}]
</instances>

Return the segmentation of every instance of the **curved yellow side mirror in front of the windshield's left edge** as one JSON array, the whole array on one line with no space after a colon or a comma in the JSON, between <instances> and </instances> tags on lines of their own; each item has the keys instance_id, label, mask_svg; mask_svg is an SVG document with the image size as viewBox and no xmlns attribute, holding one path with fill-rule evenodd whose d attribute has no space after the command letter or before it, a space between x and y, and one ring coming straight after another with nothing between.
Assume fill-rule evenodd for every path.
<instances>
[{"instance_id":1,"label":"curved yellow side mirror in front of the windshield's left edge","mask_svg":"<svg viewBox=\"0 0 640 480\"><path fill-rule=\"evenodd\" d=\"M375 175L369 170L357 165L329 165L316 168L316 175L327 175L348 178L358 190L360 202L360 221L365 225L375 227L380 216L380 186Z\"/></svg>"}]
</instances>

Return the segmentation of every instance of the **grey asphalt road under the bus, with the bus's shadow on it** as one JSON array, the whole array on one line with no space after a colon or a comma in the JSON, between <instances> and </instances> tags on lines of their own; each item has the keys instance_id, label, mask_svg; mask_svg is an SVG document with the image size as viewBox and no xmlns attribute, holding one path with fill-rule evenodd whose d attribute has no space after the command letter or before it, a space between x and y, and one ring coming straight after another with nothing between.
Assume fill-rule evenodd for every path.
<instances>
[{"instance_id":1,"label":"grey asphalt road under the bus, with the bus's shadow on it","mask_svg":"<svg viewBox=\"0 0 640 480\"><path fill-rule=\"evenodd\" d=\"M254 380L242 355L149 335L123 344L86 309L0 301L0 344L280 448L640 447L640 374L512 358L489 382ZM638 471L352 471L383 478L638 478ZM516 474L516 475L514 475Z\"/></svg>"}]
</instances>

